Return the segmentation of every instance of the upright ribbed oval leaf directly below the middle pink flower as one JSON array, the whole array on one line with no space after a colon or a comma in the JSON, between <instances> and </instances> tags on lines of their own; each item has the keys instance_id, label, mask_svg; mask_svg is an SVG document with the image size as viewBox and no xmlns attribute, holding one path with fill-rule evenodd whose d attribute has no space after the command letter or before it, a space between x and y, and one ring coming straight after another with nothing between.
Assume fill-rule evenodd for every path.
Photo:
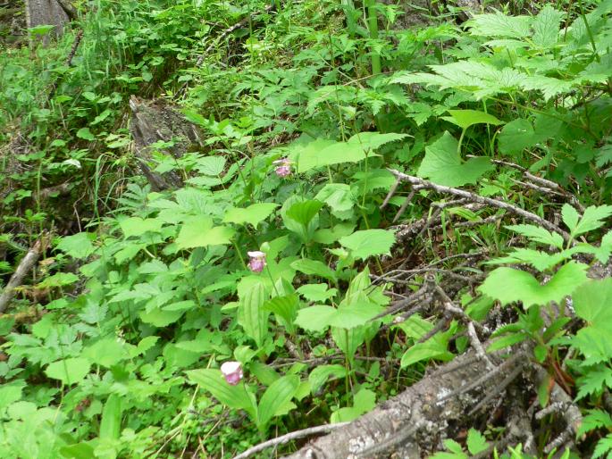
<instances>
[{"instance_id":1,"label":"upright ribbed oval leaf directly below the middle pink flower","mask_svg":"<svg viewBox=\"0 0 612 459\"><path fill-rule=\"evenodd\" d=\"M268 333L268 316L264 309L266 292L262 282L256 282L239 298L238 323L245 330L247 337L253 338L261 347Z\"/></svg>"}]
</instances>

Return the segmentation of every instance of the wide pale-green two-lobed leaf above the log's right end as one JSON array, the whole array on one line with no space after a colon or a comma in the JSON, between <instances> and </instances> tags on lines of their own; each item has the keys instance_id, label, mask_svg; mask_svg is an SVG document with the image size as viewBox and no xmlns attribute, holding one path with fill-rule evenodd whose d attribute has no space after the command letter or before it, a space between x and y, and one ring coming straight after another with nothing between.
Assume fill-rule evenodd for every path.
<instances>
[{"instance_id":1,"label":"wide pale-green two-lobed leaf above the log's right end","mask_svg":"<svg viewBox=\"0 0 612 459\"><path fill-rule=\"evenodd\" d=\"M502 305L520 301L528 308L548 305L551 301L560 303L587 280L586 269L582 263L569 262L541 285L529 272L498 268L490 272L479 290L483 295L499 300Z\"/></svg>"}]
</instances>

